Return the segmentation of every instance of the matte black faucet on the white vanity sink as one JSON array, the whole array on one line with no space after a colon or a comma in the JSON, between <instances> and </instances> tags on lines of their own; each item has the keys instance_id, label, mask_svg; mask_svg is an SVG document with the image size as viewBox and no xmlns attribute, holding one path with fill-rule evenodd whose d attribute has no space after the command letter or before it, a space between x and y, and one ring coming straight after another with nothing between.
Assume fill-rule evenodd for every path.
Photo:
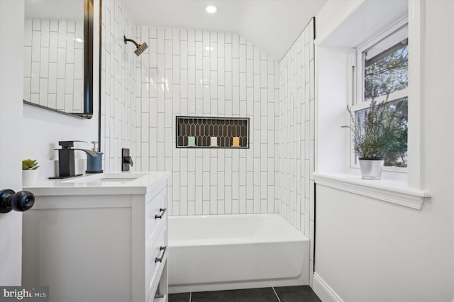
<instances>
[{"instance_id":1,"label":"matte black faucet on the white vanity sink","mask_svg":"<svg viewBox=\"0 0 454 302\"><path fill-rule=\"evenodd\" d=\"M92 157L98 156L96 152L87 150L73 148L74 142L83 142L82 140L61 140L58 142L58 145L62 146L58 150L58 177L49 177L51 179L60 179L67 177L77 177L82 174L76 174L74 169L74 150L81 150L87 152Z\"/></svg>"}]
</instances>

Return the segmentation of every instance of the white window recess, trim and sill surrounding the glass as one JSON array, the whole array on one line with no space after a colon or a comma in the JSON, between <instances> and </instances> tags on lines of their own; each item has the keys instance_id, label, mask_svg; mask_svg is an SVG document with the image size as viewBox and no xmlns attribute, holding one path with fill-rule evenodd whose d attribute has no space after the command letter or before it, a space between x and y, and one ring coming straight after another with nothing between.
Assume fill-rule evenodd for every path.
<instances>
[{"instance_id":1,"label":"white window recess, trim and sill surrounding the glass","mask_svg":"<svg viewBox=\"0 0 454 302\"><path fill-rule=\"evenodd\" d=\"M387 6L378 6L375 1L362 1L352 13L346 14L333 30L317 35L316 53L316 157L314 179L318 186L350 192L378 201L394 203L409 208L421 209L430 200L431 193L424 188L423 167L423 108L426 91L423 89L424 43L423 1L389 1ZM406 11L408 13L402 13ZM365 20L367 22L365 22ZM393 20L393 21L391 21ZM406 26L408 23L408 27ZM398 31L407 31L400 36ZM378 30L383 34L378 35ZM380 51L372 48L397 33ZM384 167L380 181L367 181L359 177L348 130L350 116L345 105L358 114L369 107L365 96L366 60L373 64L376 55L389 50L408 38L408 88L405 85L380 95L375 89L377 101L397 101L406 98L408 106L408 167ZM368 41L364 43L362 41ZM362 44L361 44L362 43ZM406 44L406 43L405 43ZM376 48L377 48L376 47ZM352 51L354 50L354 51ZM367 52L364 54L364 52ZM390 50L392 52L392 50ZM386 56L386 52L383 54ZM372 76L372 75L371 75ZM373 91L373 90L369 90ZM382 90L383 91L383 90ZM386 91L386 90L384 90ZM400 96L399 96L400 94ZM409 102L409 103L408 103ZM352 169L353 168L353 169Z\"/></svg>"}]
</instances>

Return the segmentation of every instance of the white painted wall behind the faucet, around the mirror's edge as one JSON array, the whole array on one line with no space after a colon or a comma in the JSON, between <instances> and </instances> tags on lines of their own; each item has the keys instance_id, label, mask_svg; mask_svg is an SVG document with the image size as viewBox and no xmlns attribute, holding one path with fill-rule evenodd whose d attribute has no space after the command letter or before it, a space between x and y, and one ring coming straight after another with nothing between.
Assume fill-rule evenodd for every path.
<instances>
[{"instance_id":1,"label":"white painted wall behind the faucet, around the mirror's edge","mask_svg":"<svg viewBox=\"0 0 454 302\"><path fill-rule=\"evenodd\" d=\"M81 7L82 9L82 7ZM94 54L99 53L99 1L94 1ZM23 106L23 159L31 158L38 160L40 164L39 178L55 176L57 173L58 152L53 150L60 148L59 140L98 140L98 99L99 99L99 57L94 55L94 106L93 117L90 120L65 116L43 108ZM18 122L21 123L21 122ZM77 147L90 148L89 143L77 143ZM84 152L76 152L76 158L80 159L76 166L78 172L85 171Z\"/></svg>"}]
</instances>

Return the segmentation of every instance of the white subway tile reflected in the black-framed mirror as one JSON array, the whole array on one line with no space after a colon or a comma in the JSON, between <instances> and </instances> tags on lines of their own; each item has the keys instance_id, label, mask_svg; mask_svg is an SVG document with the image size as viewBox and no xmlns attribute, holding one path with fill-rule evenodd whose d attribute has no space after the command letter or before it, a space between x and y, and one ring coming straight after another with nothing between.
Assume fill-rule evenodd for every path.
<instances>
[{"instance_id":1,"label":"white subway tile reflected in the black-framed mirror","mask_svg":"<svg viewBox=\"0 0 454 302\"><path fill-rule=\"evenodd\" d=\"M70 113L83 111L84 23L26 19L23 99Z\"/></svg>"}]
</instances>

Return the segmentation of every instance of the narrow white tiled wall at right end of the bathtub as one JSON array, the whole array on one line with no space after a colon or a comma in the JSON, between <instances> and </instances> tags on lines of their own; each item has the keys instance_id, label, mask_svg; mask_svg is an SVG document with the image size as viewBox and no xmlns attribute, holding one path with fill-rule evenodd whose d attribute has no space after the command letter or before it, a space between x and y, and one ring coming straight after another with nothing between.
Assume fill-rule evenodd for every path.
<instances>
[{"instance_id":1,"label":"narrow white tiled wall at right end of the bathtub","mask_svg":"<svg viewBox=\"0 0 454 302\"><path fill-rule=\"evenodd\" d=\"M279 62L280 90L275 106L278 146L275 188L279 213L311 239L311 268L314 267L314 76L312 19Z\"/></svg>"}]
</instances>

